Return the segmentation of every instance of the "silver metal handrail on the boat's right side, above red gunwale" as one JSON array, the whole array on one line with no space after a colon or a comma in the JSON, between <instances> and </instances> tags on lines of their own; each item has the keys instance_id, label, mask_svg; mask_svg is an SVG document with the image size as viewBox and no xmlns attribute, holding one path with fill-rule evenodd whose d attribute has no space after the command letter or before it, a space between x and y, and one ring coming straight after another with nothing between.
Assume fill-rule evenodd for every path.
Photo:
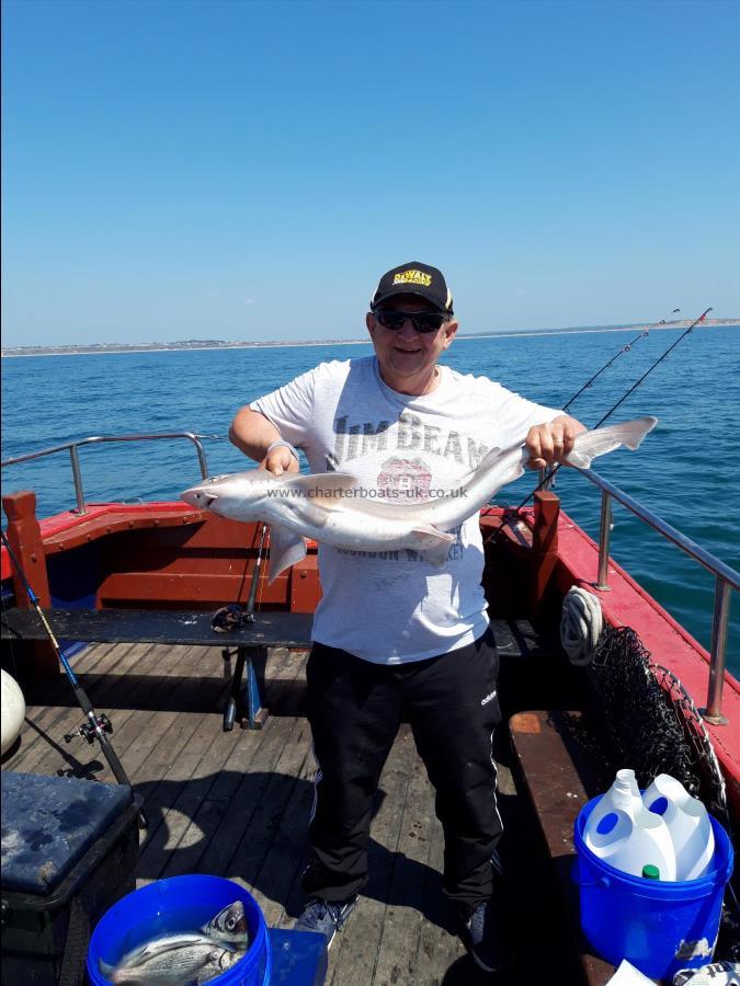
<instances>
[{"instance_id":1,"label":"silver metal handrail on the boat's right side, above red gunwale","mask_svg":"<svg viewBox=\"0 0 740 986\"><path fill-rule=\"evenodd\" d=\"M610 483L596 472L590 469L579 469L594 485L602 491L601 495L601 526L599 534L599 572L595 587L602 592L608 592L608 554L612 530L612 501L616 500L623 506L635 514L640 520L657 530L668 541L688 554L715 576L715 610L711 623L711 647L709 651L709 686L707 689L707 704L703 711L704 718L716 725L725 725L727 718L722 715L722 686L725 684L725 666L727 651L727 622L730 615L730 589L740 592L740 573L736 572L725 562L715 558L696 541L692 541L680 530L676 530L665 520L662 520L652 511L644 507L628 493Z\"/></svg>"}]
</instances>

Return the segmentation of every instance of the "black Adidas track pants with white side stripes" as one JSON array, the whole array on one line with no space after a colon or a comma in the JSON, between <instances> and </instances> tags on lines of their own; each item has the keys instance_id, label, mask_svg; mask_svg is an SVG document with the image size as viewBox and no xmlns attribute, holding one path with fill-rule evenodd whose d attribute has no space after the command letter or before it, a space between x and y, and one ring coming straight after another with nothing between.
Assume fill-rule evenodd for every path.
<instances>
[{"instance_id":1,"label":"black Adidas track pants with white side stripes","mask_svg":"<svg viewBox=\"0 0 740 986\"><path fill-rule=\"evenodd\" d=\"M436 791L445 894L464 914L488 899L502 832L491 755L498 667L490 630L466 647L400 666L314 645L306 677L318 771L307 894L343 901L365 883L373 796L405 711Z\"/></svg>"}]
</instances>

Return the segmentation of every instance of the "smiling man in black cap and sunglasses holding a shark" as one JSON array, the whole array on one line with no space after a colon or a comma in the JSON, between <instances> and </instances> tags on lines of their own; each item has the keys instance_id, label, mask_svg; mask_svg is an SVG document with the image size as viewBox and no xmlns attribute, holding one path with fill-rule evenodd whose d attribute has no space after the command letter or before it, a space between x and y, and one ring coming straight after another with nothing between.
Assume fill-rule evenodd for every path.
<instances>
[{"instance_id":1,"label":"smiling man in black cap and sunglasses holding a shark","mask_svg":"<svg viewBox=\"0 0 740 986\"><path fill-rule=\"evenodd\" d=\"M456 489L490 448L525 435L533 467L557 461L583 431L439 365L458 323L435 267L411 262L385 274L366 324L375 356L321 364L253 401L237 413L231 442L275 475L298 471L299 446L312 472L350 472L395 503ZM318 770L308 904L296 927L330 944L354 907L373 796L405 710L436 791L445 895L474 959L494 971L510 959L491 863L502 832L491 756L498 656L478 517L454 534L442 569L413 551L319 547L323 596L306 670Z\"/></svg>"}]
</instances>

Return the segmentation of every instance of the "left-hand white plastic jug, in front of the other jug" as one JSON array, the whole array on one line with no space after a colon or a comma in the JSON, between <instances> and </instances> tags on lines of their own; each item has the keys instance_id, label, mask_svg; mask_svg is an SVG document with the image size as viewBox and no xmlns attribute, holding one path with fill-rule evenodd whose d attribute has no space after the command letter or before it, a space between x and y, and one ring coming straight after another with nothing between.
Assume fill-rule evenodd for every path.
<instances>
[{"instance_id":1,"label":"left-hand white plastic jug, in front of the other jug","mask_svg":"<svg viewBox=\"0 0 740 986\"><path fill-rule=\"evenodd\" d=\"M641 876L645 865L654 865L661 880L675 880L675 851L668 825L642 803L634 770L617 770L614 783L589 816L583 840L595 856L623 873Z\"/></svg>"}]
</instances>

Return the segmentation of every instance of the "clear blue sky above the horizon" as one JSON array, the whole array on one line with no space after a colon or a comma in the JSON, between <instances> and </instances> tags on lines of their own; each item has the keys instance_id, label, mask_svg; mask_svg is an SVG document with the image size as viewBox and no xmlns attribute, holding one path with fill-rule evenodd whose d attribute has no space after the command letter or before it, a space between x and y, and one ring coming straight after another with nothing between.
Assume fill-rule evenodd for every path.
<instances>
[{"instance_id":1,"label":"clear blue sky above the horizon","mask_svg":"<svg viewBox=\"0 0 740 986\"><path fill-rule=\"evenodd\" d=\"M4 0L3 345L740 316L740 4Z\"/></svg>"}]
</instances>

